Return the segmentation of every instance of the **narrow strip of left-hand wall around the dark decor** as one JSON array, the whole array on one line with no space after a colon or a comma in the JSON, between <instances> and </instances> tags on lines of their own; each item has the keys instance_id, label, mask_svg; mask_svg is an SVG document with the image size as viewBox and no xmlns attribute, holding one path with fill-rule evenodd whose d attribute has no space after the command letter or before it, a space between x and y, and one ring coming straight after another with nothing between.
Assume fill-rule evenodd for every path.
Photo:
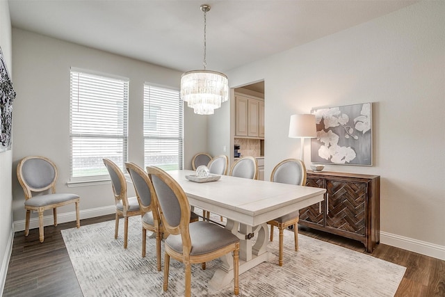
<instances>
[{"instance_id":1,"label":"narrow strip of left-hand wall around the dark decor","mask_svg":"<svg viewBox=\"0 0 445 297\"><path fill-rule=\"evenodd\" d=\"M6 59L8 72L13 72L13 50L11 42L11 24L8 1L0 1L0 47ZM13 194L11 178L13 175L12 163L13 151L0 152L0 292L8 271L10 251L13 244L13 218L11 205Z\"/></svg>"}]
</instances>

